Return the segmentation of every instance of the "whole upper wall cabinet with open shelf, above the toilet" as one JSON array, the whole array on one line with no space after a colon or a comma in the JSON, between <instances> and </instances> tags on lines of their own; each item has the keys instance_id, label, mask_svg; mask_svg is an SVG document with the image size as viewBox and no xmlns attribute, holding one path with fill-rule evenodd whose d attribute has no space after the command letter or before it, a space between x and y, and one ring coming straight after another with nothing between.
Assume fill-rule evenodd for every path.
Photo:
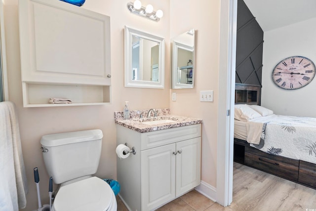
<instances>
[{"instance_id":1,"label":"whole upper wall cabinet with open shelf, above the toilet","mask_svg":"<svg viewBox=\"0 0 316 211\"><path fill-rule=\"evenodd\" d=\"M19 0L25 107L110 102L110 17L59 0ZM66 105L66 104L61 104Z\"/></svg>"}]
</instances>

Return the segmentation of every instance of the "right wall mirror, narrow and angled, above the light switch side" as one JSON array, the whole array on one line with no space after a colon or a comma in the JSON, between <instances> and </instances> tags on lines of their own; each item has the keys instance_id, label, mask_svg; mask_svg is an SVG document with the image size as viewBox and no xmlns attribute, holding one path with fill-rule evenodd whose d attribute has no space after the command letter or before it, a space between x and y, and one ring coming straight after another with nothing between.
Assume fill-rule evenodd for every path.
<instances>
[{"instance_id":1,"label":"right wall mirror, narrow and angled, above the light switch side","mask_svg":"<svg viewBox=\"0 0 316 211\"><path fill-rule=\"evenodd\" d=\"M172 39L172 88L194 87L195 30Z\"/></svg>"}]
</instances>

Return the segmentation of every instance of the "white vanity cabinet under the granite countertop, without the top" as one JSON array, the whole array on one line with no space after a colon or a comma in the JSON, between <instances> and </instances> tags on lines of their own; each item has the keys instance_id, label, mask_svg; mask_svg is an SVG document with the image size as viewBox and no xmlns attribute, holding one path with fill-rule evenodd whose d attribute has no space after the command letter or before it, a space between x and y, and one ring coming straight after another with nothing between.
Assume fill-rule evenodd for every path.
<instances>
[{"instance_id":1,"label":"white vanity cabinet under the granite countertop, without the top","mask_svg":"<svg viewBox=\"0 0 316 211\"><path fill-rule=\"evenodd\" d=\"M139 133L117 126L118 144L136 154L118 159L120 198L131 211L150 211L200 184L201 125Z\"/></svg>"}]
</instances>

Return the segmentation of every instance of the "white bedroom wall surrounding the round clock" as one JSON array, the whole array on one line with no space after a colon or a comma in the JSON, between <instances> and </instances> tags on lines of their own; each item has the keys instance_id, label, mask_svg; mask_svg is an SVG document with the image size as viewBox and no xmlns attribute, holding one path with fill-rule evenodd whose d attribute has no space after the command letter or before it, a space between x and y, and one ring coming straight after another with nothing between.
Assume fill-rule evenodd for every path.
<instances>
[{"instance_id":1,"label":"white bedroom wall surrounding the round clock","mask_svg":"<svg viewBox=\"0 0 316 211\"><path fill-rule=\"evenodd\" d=\"M272 71L282 59L305 56L316 63L316 18L264 32L261 105L275 114L316 117L316 78L295 90L279 88Z\"/></svg>"}]
</instances>

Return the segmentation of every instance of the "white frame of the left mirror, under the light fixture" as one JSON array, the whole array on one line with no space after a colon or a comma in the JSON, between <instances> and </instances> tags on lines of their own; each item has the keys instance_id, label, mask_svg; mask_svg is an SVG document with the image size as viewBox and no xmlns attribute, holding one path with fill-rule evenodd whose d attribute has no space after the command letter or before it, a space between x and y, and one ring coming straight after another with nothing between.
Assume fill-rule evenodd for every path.
<instances>
[{"instance_id":1,"label":"white frame of the left mirror, under the light fixture","mask_svg":"<svg viewBox=\"0 0 316 211\"><path fill-rule=\"evenodd\" d=\"M135 81L132 80L132 36L137 36L146 40L159 43L159 81ZM164 38L147 32L139 31L125 26L125 43L124 43L124 85L125 87L138 87L138 88L164 88L164 51L165 41Z\"/></svg>"}]
</instances>

